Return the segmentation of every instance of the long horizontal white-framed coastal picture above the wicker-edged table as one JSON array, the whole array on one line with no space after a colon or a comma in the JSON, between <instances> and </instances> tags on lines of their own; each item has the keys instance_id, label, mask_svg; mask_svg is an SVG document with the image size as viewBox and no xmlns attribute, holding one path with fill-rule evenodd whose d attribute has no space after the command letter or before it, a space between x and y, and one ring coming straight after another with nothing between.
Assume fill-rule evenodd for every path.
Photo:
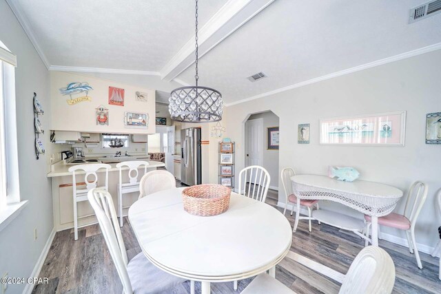
<instances>
[{"instance_id":1,"label":"long horizontal white-framed coastal picture above the wicker-edged table","mask_svg":"<svg viewBox=\"0 0 441 294\"><path fill-rule=\"evenodd\" d=\"M322 145L404 146L406 112L320 120Z\"/></svg>"}]
</instances>

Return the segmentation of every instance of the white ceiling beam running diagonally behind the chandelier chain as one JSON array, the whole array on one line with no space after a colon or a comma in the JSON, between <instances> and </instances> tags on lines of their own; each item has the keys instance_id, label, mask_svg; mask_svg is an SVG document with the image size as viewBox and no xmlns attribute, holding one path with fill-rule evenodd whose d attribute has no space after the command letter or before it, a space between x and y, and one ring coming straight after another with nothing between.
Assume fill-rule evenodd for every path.
<instances>
[{"instance_id":1,"label":"white ceiling beam running diagonally behind the chandelier chain","mask_svg":"<svg viewBox=\"0 0 441 294\"><path fill-rule=\"evenodd\" d=\"M228 0L198 32L198 55L204 56L274 0ZM194 63L194 36L163 67L161 78L172 81Z\"/></svg>"}]
</instances>

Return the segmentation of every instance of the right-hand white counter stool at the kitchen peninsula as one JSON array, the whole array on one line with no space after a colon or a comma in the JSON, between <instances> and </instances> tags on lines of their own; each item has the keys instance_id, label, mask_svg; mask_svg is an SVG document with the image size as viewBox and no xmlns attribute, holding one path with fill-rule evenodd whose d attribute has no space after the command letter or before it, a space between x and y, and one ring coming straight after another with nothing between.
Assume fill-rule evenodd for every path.
<instances>
[{"instance_id":1,"label":"right-hand white counter stool at the kitchen peninsula","mask_svg":"<svg viewBox=\"0 0 441 294\"><path fill-rule=\"evenodd\" d=\"M143 160L124 161L116 164L119 168L119 182L118 182L118 214L119 214L119 226L123 227L123 195L126 193L139 192L138 176L140 167L144 167L144 175L147 174L147 166L149 162ZM123 182L123 169L129 168L128 176L129 181Z\"/></svg>"}]
</instances>

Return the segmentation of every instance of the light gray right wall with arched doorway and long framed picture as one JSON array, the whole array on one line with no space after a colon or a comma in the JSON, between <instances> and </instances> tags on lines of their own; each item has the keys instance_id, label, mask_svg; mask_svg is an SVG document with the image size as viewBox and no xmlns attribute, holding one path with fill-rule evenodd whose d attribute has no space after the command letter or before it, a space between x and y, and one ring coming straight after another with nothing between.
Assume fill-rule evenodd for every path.
<instances>
[{"instance_id":1,"label":"light gray right wall with arched doorway and long framed picture","mask_svg":"<svg viewBox=\"0 0 441 294\"><path fill-rule=\"evenodd\" d=\"M236 172L245 163L241 148L247 114L271 110L280 118L280 170L295 167L298 174L325 175L328 165L351 166L360 171L361 180L383 182L406 192L413 181L427 182L429 196L416 225L416 239L435 246L441 224L435 210L435 193L441 187L441 145L425 144L424 136L426 114L441 112L440 65L438 50L226 107L223 124L225 136L236 140ZM407 111L404 147L319 145L320 118L400 110ZM310 144L297 143L299 123L311 123ZM280 178L278 185L281 187ZM282 190L279 201L285 202ZM396 212L404 211L404 200ZM396 229L383 231L405 238Z\"/></svg>"}]
</instances>

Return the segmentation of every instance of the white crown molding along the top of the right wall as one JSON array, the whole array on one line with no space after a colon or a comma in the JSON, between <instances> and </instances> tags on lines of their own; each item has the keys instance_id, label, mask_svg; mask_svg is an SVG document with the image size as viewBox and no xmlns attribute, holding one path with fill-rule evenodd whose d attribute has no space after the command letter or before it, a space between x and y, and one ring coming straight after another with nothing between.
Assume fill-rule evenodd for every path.
<instances>
[{"instance_id":1,"label":"white crown molding along the top of the right wall","mask_svg":"<svg viewBox=\"0 0 441 294\"><path fill-rule=\"evenodd\" d=\"M418 56L420 54L424 54L424 53L428 53L428 52L432 52L432 51L440 50L440 49L441 49L441 43L435 43L433 45L429 45L429 46L426 46L426 47L423 47L423 48L420 48L420 49L412 50L412 51L409 51L409 52L404 52L402 54L398 54L398 55L394 55L394 56L391 56L391 57L387 57L385 59L380 59L378 61L373 61L373 62L370 62L370 63L365 63L363 65L358 65L356 67L351 67L351 68L348 68L347 70L340 70L339 72L333 72L331 74L326 74L325 76L319 76L318 78L311 78L310 80L307 80L307 81L302 81L300 83L296 83L294 85L289 85L287 87L281 87L281 88L276 89L276 90L272 90L272 91L269 91L269 92L265 92L265 93L262 93L262 94L258 94L258 95L255 95L255 96L244 98L244 99L241 99L239 101L234 101L232 103L225 103L225 106L228 107L228 106L233 106L233 105L237 105L237 104L240 104L240 103L245 103L245 102L248 102L248 101L253 101L253 100L256 100L258 98L263 98L263 97L266 97L266 96L271 96L271 95L278 94L278 93L281 93L281 92L285 92L285 91L289 91L289 90L292 90L292 89L296 89L298 87L303 87L303 86L311 85L311 84L318 83L318 82L321 82L321 81L326 81L326 80L329 80L330 78L336 78L338 76L344 76L346 74L351 74L353 72L360 72L361 70L367 70L368 68L371 68L371 67L376 67L378 65L384 65L384 64L387 64L387 63L395 62L395 61L400 61L402 59L408 59L408 58L413 57L413 56Z\"/></svg>"}]
</instances>

